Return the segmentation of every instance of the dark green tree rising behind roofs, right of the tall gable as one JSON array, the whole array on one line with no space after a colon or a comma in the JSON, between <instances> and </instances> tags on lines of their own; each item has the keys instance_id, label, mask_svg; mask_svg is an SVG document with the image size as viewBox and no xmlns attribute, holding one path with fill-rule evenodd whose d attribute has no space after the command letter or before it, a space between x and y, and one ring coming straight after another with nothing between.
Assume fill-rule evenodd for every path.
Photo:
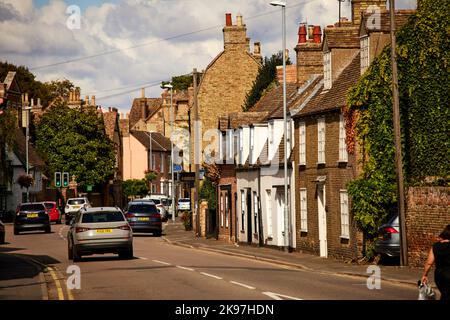
<instances>
[{"instance_id":1,"label":"dark green tree rising behind roofs, right of the tall gable","mask_svg":"<svg viewBox=\"0 0 450 320\"><path fill-rule=\"evenodd\" d=\"M289 58L286 64L291 64ZM250 110L261 99L265 90L271 84L277 82L277 66L280 65L283 65L282 52L273 54L270 58L264 58L263 65L259 68L259 73L253 82L253 86L245 97L245 102L242 107L243 111Z\"/></svg>"}]
</instances>

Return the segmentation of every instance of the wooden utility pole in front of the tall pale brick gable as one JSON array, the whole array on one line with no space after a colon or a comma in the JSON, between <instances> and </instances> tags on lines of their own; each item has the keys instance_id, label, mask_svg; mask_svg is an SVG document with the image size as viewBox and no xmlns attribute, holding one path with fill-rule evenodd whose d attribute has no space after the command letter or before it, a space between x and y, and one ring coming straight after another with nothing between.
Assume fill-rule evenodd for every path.
<instances>
[{"instance_id":1,"label":"wooden utility pole in front of the tall pale brick gable","mask_svg":"<svg viewBox=\"0 0 450 320\"><path fill-rule=\"evenodd\" d=\"M199 192L199 162L200 162L200 128L198 119L198 88L197 88L197 69L194 68L192 71L193 85L194 85L194 171L195 171L195 188L194 188L194 216L195 216L195 233L200 236L200 214L198 212L198 192Z\"/></svg>"}]
</instances>

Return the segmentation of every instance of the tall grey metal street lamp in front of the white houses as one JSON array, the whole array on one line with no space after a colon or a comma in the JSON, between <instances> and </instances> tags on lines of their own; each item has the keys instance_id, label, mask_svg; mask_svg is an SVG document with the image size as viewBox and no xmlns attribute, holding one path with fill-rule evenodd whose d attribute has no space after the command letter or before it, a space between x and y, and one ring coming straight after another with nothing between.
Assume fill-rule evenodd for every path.
<instances>
[{"instance_id":1,"label":"tall grey metal street lamp in front of the white houses","mask_svg":"<svg viewBox=\"0 0 450 320\"><path fill-rule=\"evenodd\" d=\"M290 245L290 228L289 228L289 202L288 202L288 176L287 176L287 107L286 107L286 2L272 1L270 5L281 7L281 23L282 23L282 55L283 55L283 122L284 122L284 244L285 249L289 249ZM290 137L289 137L290 139Z\"/></svg>"}]
</instances>

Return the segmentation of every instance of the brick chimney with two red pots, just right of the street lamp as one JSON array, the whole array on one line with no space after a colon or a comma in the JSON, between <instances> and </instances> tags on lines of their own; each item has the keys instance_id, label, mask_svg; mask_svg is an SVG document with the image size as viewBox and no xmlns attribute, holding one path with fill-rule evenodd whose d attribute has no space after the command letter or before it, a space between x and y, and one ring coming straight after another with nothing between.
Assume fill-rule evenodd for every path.
<instances>
[{"instance_id":1,"label":"brick chimney with two red pots, just right of the street lamp","mask_svg":"<svg viewBox=\"0 0 450 320\"><path fill-rule=\"evenodd\" d=\"M297 53L297 87L301 87L314 74L323 73L322 31L320 26L308 28L306 40L306 25L299 27L299 42L295 47ZM286 69L288 71L288 69Z\"/></svg>"}]
</instances>

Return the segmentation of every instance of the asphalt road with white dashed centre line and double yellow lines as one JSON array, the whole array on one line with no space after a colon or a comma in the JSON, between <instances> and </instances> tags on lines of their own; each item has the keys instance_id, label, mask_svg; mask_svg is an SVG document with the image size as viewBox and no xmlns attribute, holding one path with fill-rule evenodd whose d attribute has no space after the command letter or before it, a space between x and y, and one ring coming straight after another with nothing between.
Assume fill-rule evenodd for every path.
<instances>
[{"instance_id":1,"label":"asphalt road with white dashed centre line and double yellow lines","mask_svg":"<svg viewBox=\"0 0 450 320\"><path fill-rule=\"evenodd\" d=\"M132 260L115 255L84 257L76 263L81 288L69 290L66 280L71 273L67 268L73 263L67 258L68 227L52 225L50 234L38 231L18 236L12 234L11 224L6 227L7 244L0 245L0 261L4 262L0 299L417 299L417 290L403 284L382 282L381 289L369 290L361 277L321 274L184 248L167 243L163 237L147 235L135 235ZM13 264L14 271L5 267ZM38 264L47 266L47 293L42 289L42 274L36 272ZM23 288L32 289L24 295Z\"/></svg>"}]
</instances>

